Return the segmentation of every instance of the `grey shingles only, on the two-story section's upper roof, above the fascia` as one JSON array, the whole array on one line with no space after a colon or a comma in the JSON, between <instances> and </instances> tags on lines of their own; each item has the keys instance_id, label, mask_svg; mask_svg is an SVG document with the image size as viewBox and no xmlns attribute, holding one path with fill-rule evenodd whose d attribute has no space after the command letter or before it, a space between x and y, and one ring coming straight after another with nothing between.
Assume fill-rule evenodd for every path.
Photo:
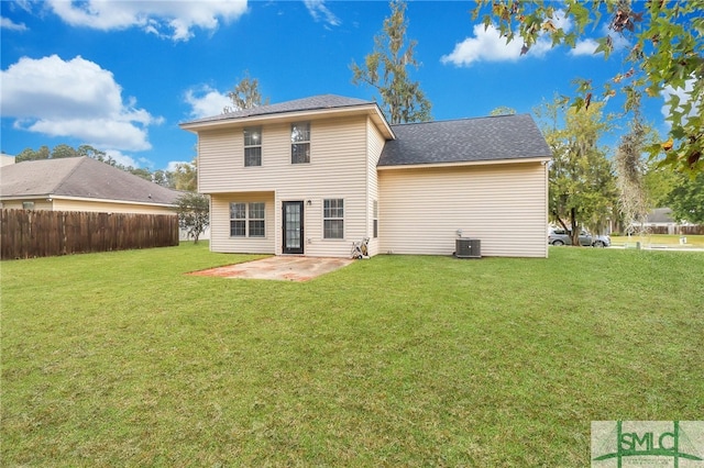
<instances>
[{"instance_id":1,"label":"grey shingles only, on the two-story section's upper roof, above the fascia","mask_svg":"<svg viewBox=\"0 0 704 468\"><path fill-rule=\"evenodd\" d=\"M279 102L277 104L260 105L254 109L244 109L235 112L226 112L220 115L215 115L215 116L209 116L209 118L186 122L186 124L215 122L215 121L230 120L230 119L244 119L244 118L256 116L256 115L282 114L282 113L288 113L288 112L315 111L320 109L349 108L349 107L362 105L362 104L374 104L374 101L364 101L362 99L345 98L345 97L336 96L336 94L322 94L322 96L314 96L311 98L296 99L294 101Z\"/></svg>"}]
</instances>

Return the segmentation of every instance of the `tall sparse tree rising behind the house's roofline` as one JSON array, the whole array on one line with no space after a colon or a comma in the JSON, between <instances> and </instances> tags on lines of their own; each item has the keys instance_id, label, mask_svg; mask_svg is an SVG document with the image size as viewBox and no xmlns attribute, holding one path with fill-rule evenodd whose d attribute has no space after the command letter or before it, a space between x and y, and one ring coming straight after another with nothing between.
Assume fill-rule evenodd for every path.
<instances>
[{"instance_id":1,"label":"tall sparse tree rising behind the house's roofline","mask_svg":"<svg viewBox=\"0 0 704 468\"><path fill-rule=\"evenodd\" d=\"M352 82L376 89L382 97L383 110L391 123L422 122L431 119L430 101L418 81L411 81L408 67L418 68L414 57L416 41L406 44L406 3L391 2L392 15L374 37L374 49L364 58L364 65L352 62Z\"/></svg>"}]
</instances>

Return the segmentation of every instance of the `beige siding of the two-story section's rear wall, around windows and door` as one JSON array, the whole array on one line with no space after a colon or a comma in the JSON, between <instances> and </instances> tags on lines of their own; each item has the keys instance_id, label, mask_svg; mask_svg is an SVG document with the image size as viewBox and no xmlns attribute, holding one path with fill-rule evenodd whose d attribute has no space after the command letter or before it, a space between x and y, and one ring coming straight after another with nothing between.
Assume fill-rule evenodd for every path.
<instances>
[{"instance_id":1,"label":"beige siding of the two-story section's rear wall, around windows and door","mask_svg":"<svg viewBox=\"0 0 704 468\"><path fill-rule=\"evenodd\" d=\"M305 255L349 256L351 242L367 233L366 116L310 121L310 163L300 165L290 163L290 122L261 126L257 167L244 167L243 126L200 132L199 191L212 197L211 249L254 252L250 244L243 250L238 239L229 238L229 202L239 194L267 192L273 193L273 203L266 207L267 220L274 220L266 227L267 237L274 229L273 253L282 253L282 202L304 201ZM344 200L344 238L324 239L323 199L337 198ZM261 244L262 253L272 253L267 241Z\"/></svg>"}]
</instances>

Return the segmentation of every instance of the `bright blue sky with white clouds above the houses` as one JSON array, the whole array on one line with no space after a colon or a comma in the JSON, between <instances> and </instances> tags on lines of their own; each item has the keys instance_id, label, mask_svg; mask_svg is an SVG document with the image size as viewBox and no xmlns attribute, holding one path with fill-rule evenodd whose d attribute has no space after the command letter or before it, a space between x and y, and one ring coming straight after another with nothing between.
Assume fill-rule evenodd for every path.
<instances>
[{"instance_id":1,"label":"bright blue sky with white clouds above the houses","mask_svg":"<svg viewBox=\"0 0 704 468\"><path fill-rule=\"evenodd\" d=\"M601 83L625 73L619 54L540 44L520 56L472 22L470 1L409 1L407 36L421 67L411 73L435 120L498 107L532 113L574 78ZM386 1L0 1L1 149L90 144L151 170L195 157L180 122L219 114L249 73L272 103L334 93L373 99L352 85L389 15ZM570 27L569 24L564 24ZM610 103L609 110L619 110ZM647 116L664 132L661 98Z\"/></svg>"}]
</instances>

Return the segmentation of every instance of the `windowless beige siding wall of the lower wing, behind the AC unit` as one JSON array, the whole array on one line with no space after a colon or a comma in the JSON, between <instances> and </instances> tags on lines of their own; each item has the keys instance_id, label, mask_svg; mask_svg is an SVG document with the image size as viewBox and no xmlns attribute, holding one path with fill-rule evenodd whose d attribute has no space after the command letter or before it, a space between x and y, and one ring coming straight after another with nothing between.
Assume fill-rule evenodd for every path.
<instances>
[{"instance_id":1,"label":"windowless beige siding wall of the lower wing, behind the AC unit","mask_svg":"<svg viewBox=\"0 0 704 468\"><path fill-rule=\"evenodd\" d=\"M457 231L483 256L547 257L547 166L380 171L382 253L451 255Z\"/></svg>"}]
</instances>

